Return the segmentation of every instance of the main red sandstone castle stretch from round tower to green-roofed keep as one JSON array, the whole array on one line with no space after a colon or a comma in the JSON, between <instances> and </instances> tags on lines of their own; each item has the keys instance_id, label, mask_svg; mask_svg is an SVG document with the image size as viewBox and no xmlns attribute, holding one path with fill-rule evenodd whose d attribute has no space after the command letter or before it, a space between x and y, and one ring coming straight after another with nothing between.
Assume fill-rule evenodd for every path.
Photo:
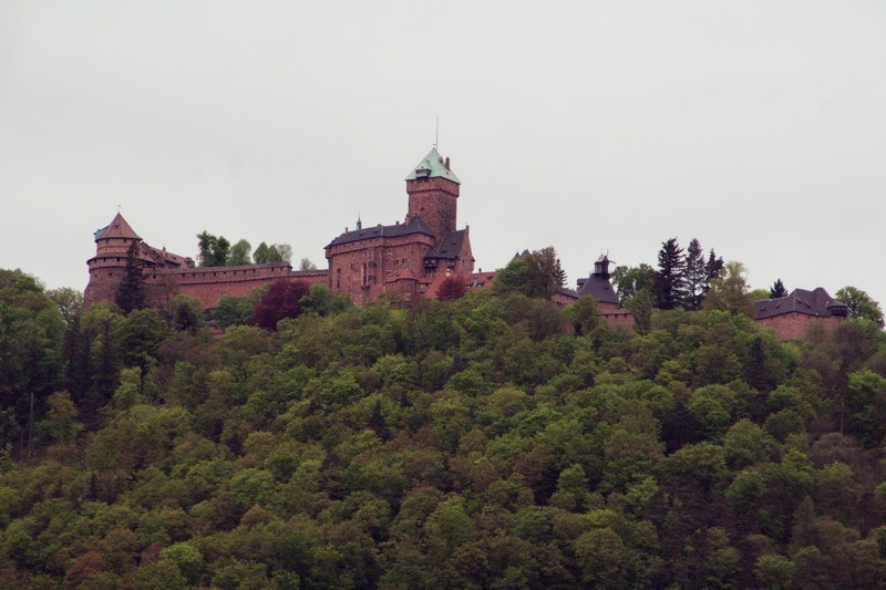
<instances>
[{"instance_id":1,"label":"main red sandstone castle stretch from round tower to green-roofed keep","mask_svg":"<svg viewBox=\"0 0 886 590\"><path fill-rule=\"evenodd\" d=\"M148 246L117 213L95 232L95 256L86 265L90 282L86 306L113 302L126 268L130 247L136 245L148 297L163 304L176 294L198 299L213 309L222 296L245 296L276 280L326 284L358 306L395 291L405 298L434 297L449 276L477 287L494 273L474 273L468 228L456 229L461 180L449 158L431 152L406 176L409 207L404 221L346 231L326 246L328 270L297 271L289 263L243 267L196 267L194 260Z\"/></svg>"}]
</instances>

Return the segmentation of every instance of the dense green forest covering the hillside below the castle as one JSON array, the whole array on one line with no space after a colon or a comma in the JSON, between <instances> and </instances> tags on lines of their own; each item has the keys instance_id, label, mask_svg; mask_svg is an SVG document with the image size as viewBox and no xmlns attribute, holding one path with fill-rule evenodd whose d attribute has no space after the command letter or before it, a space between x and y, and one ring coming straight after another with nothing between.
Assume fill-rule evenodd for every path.
<instances>
[{"instance_id":1,"label":"dense green forest covering the hillside below the castle","mask_svg":"<svg viewBox=\"0 0 886 590\"><path fill-rule=\"evenodd\" d=\"M297 291L216 335L0 271L0 587L886 587L876 322Z\"/></svg>"}]
</instances>

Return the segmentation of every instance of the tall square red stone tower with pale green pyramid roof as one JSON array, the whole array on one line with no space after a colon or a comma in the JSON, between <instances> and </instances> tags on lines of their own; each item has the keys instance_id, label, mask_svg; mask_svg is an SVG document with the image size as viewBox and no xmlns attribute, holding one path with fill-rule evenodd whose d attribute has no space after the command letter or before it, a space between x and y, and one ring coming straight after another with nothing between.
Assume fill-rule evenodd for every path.
<instances>
[{"instance_id":1,"label":"tall square red stone tower with pale green pyramid roof","mask_svg":"<svg viewBox=\"0 0 886 590\"><path fill-rule=\"evenodd\" d=\"M443 159L436 148L424 156L406 176L409 213L406 224L419 217L434 232L439 245L450 231L455 231L456 203L461 180L450 169L450 159Z\"/></svg>"}]
</instances>

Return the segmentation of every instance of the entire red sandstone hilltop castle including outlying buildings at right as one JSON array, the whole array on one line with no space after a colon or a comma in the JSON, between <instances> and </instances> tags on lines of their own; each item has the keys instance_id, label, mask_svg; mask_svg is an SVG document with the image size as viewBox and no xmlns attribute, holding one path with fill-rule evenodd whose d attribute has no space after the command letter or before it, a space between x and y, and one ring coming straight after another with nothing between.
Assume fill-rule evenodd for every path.
<instances>
[{"instance_id":1,"label":"entire red sandstone hilltop castle including outlying buildings at right","mask_svg":"<svg viewBox=\"0 0 886 590\"><path fill-rule=\"evenodd\" d=\"M347 294L358 306L389 292L406 300L434 298L446 277L460 277L473 288L492 284L495 272L474 272L470 228L456 229L461 180L450 159L432 148L405 180L409 205L404 221L367 228L358 221L354 230L346 228L324 248L328 270L297 271L287 262L196 267L190 258L148 246L117 213L111 224L95 232L95 256L86 262L90 282L84 303L114 302L133 244L154 306L185 294L198 299L208 310L223 296L246 296L280 279L326 284L333 294ZM560 288L553 300L564 307L583 296L597 300L600 315L610 325L633 327L633 315L619 309L609 281L608 257L601 256L594 272L578 280L577 290ZM833 327L847 312L846 306L822 288L797 289L785 298L758 301L754 319L780 338L793 339L800 338L810 323Z\"/></svg>"}]
</instances>

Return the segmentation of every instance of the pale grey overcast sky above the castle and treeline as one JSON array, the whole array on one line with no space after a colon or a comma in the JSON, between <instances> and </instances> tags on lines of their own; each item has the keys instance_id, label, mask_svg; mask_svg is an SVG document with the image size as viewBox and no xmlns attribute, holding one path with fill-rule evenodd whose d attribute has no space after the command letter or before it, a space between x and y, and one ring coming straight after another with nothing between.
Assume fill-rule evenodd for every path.
<instances>
[{"instance_id":1,"label":"pale grey overcast sky above the castle and treeline","mask_svg":"<svg viewBox=\"0 0 886 590\"><path fill-rule=\"evenodd\" d=\"M0 0L0 268L83 289L148 244L323 246L440 151L476 266L553 245L886 302L886 2Z\"/></svg>"}]
</instances>

